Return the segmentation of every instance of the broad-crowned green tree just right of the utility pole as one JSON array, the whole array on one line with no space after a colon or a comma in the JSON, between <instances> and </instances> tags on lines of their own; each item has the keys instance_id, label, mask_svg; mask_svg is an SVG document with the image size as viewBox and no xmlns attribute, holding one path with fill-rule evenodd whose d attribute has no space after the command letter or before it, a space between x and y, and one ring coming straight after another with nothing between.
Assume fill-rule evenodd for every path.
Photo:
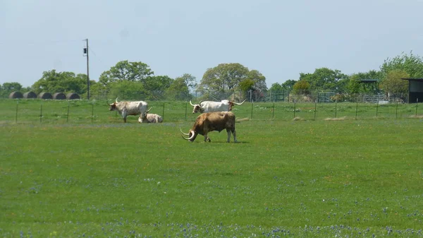
<instances>
[{"instance_id":1,"label":"broad-crowned green tree just right of the utility pole","mask_svg":"<svg viewBox=\"0 0 423 238\"><path fill-rule=\"evenodd\" d=\"M138 81L145 83L145 80L153 74L154 72L149 69L147 64L125 60L119 61L108 71L104 71L99 77L99 83L103 85L118 81Z\"/></svg>"}]
</instances>

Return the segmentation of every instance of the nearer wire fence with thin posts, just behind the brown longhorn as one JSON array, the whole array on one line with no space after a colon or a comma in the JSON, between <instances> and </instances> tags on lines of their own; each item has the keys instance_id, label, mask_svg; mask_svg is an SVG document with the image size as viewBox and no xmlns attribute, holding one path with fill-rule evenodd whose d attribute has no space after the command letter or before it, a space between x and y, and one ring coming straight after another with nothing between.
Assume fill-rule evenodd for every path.
<instances>
[{"instance_id":1,"label":"nearer wire fence with thin posts, just behind the brown longhorn","mask_svg":"<svg viewBox=\"0 0 423 238\"><path fill-rule=\"evenodd\" d=\"M159 114L164 122L195 121L189 102L148 102L150 113ZM400 102L245 102L235 105L238 119L319 120L319 119L401 119L422 117L419 103ZM0 122L4 123L121 123L116 111L105 100L0 100ZM138 116L128 116L137 123Z\"/></svg>"}]
</instances>

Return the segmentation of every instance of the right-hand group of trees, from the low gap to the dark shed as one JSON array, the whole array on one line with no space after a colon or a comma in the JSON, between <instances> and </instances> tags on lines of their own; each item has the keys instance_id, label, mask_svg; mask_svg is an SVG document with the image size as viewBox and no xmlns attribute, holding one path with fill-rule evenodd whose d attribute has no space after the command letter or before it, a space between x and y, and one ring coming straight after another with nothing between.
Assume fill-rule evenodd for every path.
<instances>
[{"instance_id":1,"label":"right-hand group of trees, from the low gap to the dark shed","mask_svg":"<svg viewBox=\"0 0 423 238\"><path fill-rule=\"evenodd\" d=\"M403 78L422 77L423 58L410 52L384 60L379 70L345 75L339 70L320 68L313 73L300 73L298 80L274 83L270 90L289 90L297 94L307 94L312 90L334 91L341 97L380 93L401 97L408 90L408 81ZM375 80L375 83L362 83L368 80Z\"/></svg>"}]
</instances>

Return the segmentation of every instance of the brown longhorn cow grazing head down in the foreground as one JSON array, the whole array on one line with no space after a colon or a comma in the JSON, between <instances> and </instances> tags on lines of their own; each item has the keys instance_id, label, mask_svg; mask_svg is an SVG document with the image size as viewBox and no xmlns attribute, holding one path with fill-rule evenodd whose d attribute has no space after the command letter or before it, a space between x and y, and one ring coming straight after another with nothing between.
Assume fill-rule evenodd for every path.
<instances>
[{"instance_id":1,"label":"brown longhorn cow grazing head down in the foreground","mask_svg":"<svg viewBox=\"0 0 423 238\"><path fill-rule=\"evenodd\" d=\"M233 142L236 141L236 133L235 133L235 114L232 112L207 112L203 113L197 117L195 120L194 126L190 129L189 133L183 133L180 129L180 132L183 133L188 138L184 138L190 142L194 141L198 134L204 136L204 141L209 141L210 138L207 136L207 133L210 131L223 131L226 129L228 133L228 140L226 142L231 141L231 133L233 134Z\"/></svg>"}]
</instances>

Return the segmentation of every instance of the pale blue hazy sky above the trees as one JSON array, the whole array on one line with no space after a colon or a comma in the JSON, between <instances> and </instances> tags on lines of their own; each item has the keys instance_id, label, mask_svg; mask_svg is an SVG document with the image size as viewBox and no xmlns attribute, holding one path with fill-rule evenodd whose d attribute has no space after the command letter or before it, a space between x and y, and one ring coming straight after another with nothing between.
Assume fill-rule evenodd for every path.
<instances>
[{"instance_id":1,"label":"pale blue hazy sky above the trees","mask_svg":"<svg viewBox=\"0 0 423 238\"><path fill-rule=\"evenodd\" d=\"M87 73L142 61L156 76L239 63L273 83L326 67L378 70L423 56L423 0L0 0L0 84L44 71Z\"/></svg>"}]
</instances>

